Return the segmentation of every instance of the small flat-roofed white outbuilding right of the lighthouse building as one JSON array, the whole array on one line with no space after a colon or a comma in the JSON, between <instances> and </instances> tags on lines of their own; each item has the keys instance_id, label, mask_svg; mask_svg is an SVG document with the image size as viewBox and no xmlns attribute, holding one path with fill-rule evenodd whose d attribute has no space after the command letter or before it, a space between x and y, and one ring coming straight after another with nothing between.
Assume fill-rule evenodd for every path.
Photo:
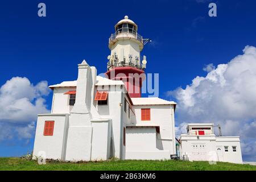
<instances>
[{"instance_id":1,"label":"small flat-roofed white outbuilding right of the lighthouse building","mask_svg":"<svg viewBox=\"0 0 256 182\"><path fill-rule=\"evenodd\" d=\"M242 164L240 137L217 137L213 123L192 123L180 137L180 157Z\"/></svg>"}]
</instances>

